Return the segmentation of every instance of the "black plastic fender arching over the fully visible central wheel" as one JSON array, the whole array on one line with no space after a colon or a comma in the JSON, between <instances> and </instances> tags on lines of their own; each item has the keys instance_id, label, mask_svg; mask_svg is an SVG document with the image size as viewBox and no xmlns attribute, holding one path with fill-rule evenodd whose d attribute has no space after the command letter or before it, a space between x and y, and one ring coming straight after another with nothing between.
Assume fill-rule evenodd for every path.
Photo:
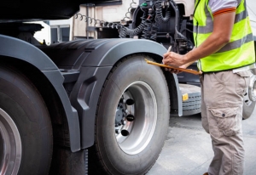
<instances>
[{"instance_id":1,"label":"black plastic fender arching over the fully visible central wheel","mask_svg":"<svg viewBox=\"0 0 256 175\"><path fill-rule=\"evenodd\" d=\"M94 144L96 106L113 65L131 54L150 54L160 61L166 48L149 40L116 38L61 42L45 48L44 52L59 68L80 72L70 93L70 100L79 112L81 147L88 148ZM177 76L173 76L178 87ZM179 88L177 97L178 115L182 116L182 95Z\"/></svg>"}]
</instances>

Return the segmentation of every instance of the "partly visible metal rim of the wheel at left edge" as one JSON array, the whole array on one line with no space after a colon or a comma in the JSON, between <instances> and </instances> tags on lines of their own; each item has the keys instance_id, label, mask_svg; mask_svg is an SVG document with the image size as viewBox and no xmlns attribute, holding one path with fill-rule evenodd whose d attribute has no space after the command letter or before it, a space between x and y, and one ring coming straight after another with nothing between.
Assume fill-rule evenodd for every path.
<instances>
[{"instance_id":1,"label":"partly visible metal rim of the wheel at left edge","mask_svg":"<svg viewBox=\"0 0 256 175\"><path fill-rule=\"evenodd\" d=\"M21 160L21 139L15 121L0 108L0 174L17 174Z\"/></svg>"}]
</instances>

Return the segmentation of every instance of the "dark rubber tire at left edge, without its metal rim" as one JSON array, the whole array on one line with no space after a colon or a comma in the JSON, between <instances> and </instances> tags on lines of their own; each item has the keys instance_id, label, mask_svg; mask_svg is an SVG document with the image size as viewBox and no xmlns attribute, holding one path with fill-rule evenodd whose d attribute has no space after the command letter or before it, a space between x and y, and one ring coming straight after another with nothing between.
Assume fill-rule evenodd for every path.
<instances>
[{"instance_id":1,"label":"dark rubber tire at left edge, without its metal rim","mask_svg":"<svg viewBox=\"0 0 256 175\"><path fill-rule=\"evenodd\" d=\"M20 133L18 174L48 174L53 146L49 112L32 82L7 66L0 66L0 108L15 121Z\"/></svg>"}]
</instances>

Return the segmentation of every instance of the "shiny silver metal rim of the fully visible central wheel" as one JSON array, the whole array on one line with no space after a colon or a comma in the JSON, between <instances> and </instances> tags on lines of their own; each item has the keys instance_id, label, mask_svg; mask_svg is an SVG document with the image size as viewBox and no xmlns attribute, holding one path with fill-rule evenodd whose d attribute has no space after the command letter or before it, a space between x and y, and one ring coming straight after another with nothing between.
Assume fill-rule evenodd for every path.
<instances>
[{"instance_id":1,"label":"shiny silver metal rim of the fully visible central wheel","mask_svg":"<svg viewBox=\"0 0 256 175\"><path fill-rule=\"evenodd\" d=\"M127 104L133 99L134 104ZM134 120L129 120L129 115ZM115 136L119 148L128 155L143 151L153 138L157 121L157 103L146 82L133 82L123 92L116 109Z\"/></svg>"}]
</instances>

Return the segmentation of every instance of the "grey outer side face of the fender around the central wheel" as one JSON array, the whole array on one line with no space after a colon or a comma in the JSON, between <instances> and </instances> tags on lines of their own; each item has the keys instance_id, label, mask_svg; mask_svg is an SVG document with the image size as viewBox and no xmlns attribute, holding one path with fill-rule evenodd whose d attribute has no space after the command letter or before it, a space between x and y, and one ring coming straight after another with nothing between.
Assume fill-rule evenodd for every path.
<instances>
[{"instance_id":1,"label":"grey outer side face of the fender around the central wheel","mask_svg":"<svg viewBox=\"0 0 256 175\"><path fill-rule=\"evenodd\" d=\"M91 46L90 42L86 44ZM127 38L102 40L97 46L91 47L90 54L80 66L79 80L70 96L73 106L79 112L82 148L88 148L94 144L96 106L101 89L113 65L133 54L148 55L160 63L164 53L166 53L166 48L157 42ZM172 107L178 110L176 113L179 116L182 116L182 95L179 88L177 88L177 76L169 72L165 72L165 76L171 95Z\"/></svg>"}]
</instances>

